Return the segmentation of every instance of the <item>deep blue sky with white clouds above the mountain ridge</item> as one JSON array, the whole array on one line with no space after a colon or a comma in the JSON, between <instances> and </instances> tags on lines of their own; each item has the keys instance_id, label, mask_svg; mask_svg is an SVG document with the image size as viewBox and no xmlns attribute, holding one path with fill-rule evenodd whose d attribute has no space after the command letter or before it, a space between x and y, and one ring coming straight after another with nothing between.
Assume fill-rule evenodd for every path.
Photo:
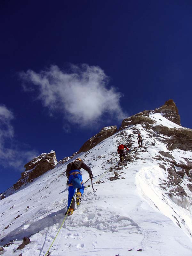
<instances>
[{"instance_id":1,"label":"deep blue sky with white clouds above the mountain ridge","mask_svg":"<svg viewBox=\"0 0 192 256\"><path fill-rule=\"evenodd\" d=\"M1 192L32 157L173 99L191 121L191 1L2 1Z\"/></svg>"}]
</instances>

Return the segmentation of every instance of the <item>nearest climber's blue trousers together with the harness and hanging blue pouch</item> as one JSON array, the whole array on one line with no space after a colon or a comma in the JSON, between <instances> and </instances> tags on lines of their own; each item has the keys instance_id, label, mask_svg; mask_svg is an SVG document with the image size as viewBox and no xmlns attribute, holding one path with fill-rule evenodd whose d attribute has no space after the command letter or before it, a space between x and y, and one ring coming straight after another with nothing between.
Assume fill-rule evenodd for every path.
<instances>
[{"instance_id":1,"label":"nearest climber's blue trousers together with the harness and hanging blue pouch","mask_svg":"<svg viewBox=\"0 0 192 256\"><path fill-rule=\"evenodd\" d=\"M79 192L81 192L81 195L84 193L84 185L83 185L83 179L81 172L79 170L72 170L69 172L69 187L68 187L68 208L71 203L71 199L73 198L75 194L76 188L78 188ZM71 204L71 208L75 208L75 201L73 200Z\"/></svg>"}]
</instances>

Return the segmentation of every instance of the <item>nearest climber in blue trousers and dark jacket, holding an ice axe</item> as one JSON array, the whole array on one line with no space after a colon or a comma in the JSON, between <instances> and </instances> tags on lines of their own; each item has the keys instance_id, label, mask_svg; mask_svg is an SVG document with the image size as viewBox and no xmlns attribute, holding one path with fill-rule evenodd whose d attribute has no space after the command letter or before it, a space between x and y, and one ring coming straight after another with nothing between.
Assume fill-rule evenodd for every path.
<instances>
[{"instance_id":1,"label":"nearest climber in blue trousers and dark jacket, holding an ice axe","mask_svg":"<svg viewBox=\"0 0 192 256\"><path fill-rule=\"evenodd\" d=\"M76 204L77 206L81 204L81 197L84 193L84 185L82 179L82 173L80 172L81 168L89 173L89 177L92 180L93 174L90 167L80 159L77 158L74 162L71 162L67 165L66 176L68 178L68 215L73 214L75 209L75 199L74 194L77 188L76 193ZM72 201L72 203L71 203ZM67 212L65 214L67 214Z\"/></svg>"}]
</instances>

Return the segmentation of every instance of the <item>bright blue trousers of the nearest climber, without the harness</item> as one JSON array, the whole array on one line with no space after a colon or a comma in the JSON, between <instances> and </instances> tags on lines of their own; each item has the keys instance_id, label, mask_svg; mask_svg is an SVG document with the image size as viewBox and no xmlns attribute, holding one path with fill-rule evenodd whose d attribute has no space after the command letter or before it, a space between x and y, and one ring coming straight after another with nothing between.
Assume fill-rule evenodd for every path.
<instances>
[{"instance_id":1,"label":"bright blue trousers of the nearest climber, without the harness","mask_svg":"<svg viewBox=\"0 0 192 256\"><path fill-rule=\"evenodd\" d=\"M75 175L70 175L69 176L69 185L72 183L72 179L74 178L79 178L81 180L81 182L83 181L82 179L82 175L79 174L75 174ZM68 187L68 206L67 209L69 208L70 204L70 208L75 209L75 200L74 200L74 194L75 194L76 189L73 186L69 186ZM84 193L84 185L82 183L82 187L81 188L77 188L77 192L81 192L81 196L83 196ZM71 200L73 198L73 202L71 203Z\"/></svg>"}]
</instances>

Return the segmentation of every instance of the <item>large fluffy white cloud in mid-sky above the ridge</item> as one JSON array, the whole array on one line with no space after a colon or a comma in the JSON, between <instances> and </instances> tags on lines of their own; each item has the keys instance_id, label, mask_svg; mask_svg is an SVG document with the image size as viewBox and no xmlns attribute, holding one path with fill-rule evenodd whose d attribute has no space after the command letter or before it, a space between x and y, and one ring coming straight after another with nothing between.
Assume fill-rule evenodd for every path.
<instances>
[{"instance_id":1,"label":"large fluffy white cloud in mid-sky above the ridge","mask_svg":"<svg viewBox=\"0 0 192 256\"><path fill-rule=\"evenodd\" d=\"M108 77L100 67L71 65L67 72L51 66L39 73L21 72L20 77L25 90L31 91L31 84L37 86L37 99L50 114L60 110L70 123L85 126L99 121L104 114L118 120L126 117L120 106L123 95L114 87L107 88Z\"/></svg>"}]
</instances>

